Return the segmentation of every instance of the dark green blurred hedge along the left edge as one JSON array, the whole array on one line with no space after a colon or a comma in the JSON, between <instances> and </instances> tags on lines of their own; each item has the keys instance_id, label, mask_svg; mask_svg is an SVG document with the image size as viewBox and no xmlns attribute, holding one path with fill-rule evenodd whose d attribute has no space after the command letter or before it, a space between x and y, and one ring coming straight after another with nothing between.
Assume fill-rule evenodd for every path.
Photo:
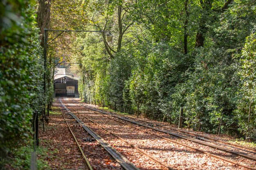
<instances>
[{"instance_id":1,"label":"dark green blurred hedge along the left edge","mask_svg":"<svg viewBox=\"0 0 256 170\"><path fill-rule=\"evenodd\" d=\"M0 156L30 136L33 110L43 108L43 60L36 2L0 2Z\"/></svg>"}]
</instances>

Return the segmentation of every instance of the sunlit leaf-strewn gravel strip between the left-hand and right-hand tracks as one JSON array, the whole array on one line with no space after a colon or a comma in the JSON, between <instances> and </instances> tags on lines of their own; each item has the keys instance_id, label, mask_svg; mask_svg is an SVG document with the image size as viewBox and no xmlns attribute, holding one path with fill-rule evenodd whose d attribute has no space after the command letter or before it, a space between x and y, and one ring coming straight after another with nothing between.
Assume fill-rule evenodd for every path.
<instances>
[{"instance_id":1,"label":"sunlit leaf-strewn gravel strip between the left-hand and right-hand tracks","mask_svg":"<svg viewBox=\"0 0 256 170\"><path fill-rule=\"evenodd\" d=\"M231 163L228 163L226 161L222 161L221 159L212 158L210 156L202 154L201 152L197 152L192 149L186 148L184 146L171 143L159 137L146 134L145 132L141 132L134 129L131 130L131 127L128 125L123 125L118 122L112 121L110 119L106 121L107 120L106 117L97 115L96 113L92 113L91 111L86 110L86 108L76 105L74 103L69 105L72 106L72 108L79 110L79 112L83 114L87 114L88 117L90 116L90 119L93 119L94 121L97 121L97 123L102 124L104 128L112 130L117 135L120 135L124 139L127 139L135 146L152 154L152 156L157 157L161 161L168 163L168 165L170 165L175 169L221 169L221 170L243 169L241 167L231 165ZM90 127L95 126L95 124L92 125L92 123L89 123L89 122L88 124L90 124ZM136 125L131 124L131 126L136 126ZM146 129L146 130L149 131L149 129ZM150 130L150 131L153 131L153 130ZM159 132L154 132L154 133L159 133ZM163 135L163 134L160 134L160 135ZM164 136L166 135L164 134ZM170 138L169 135L167 136ZM171 137L171 139L178 140L177 137ZM189 141L189 143L191 142ZM195 147L195 145L198 146L198 144L193 144L193 147ZM204 147L204 146L200 146L200 148L201 147ZM208 150L213 150L213 149L208 147ZM219 152L222 152L222 151L219 151ZM216 152L214 153L216 154ZM222 156L225 155L225 153L220 153L220 154L222 154Z\"/></svg>"}]
</instances>

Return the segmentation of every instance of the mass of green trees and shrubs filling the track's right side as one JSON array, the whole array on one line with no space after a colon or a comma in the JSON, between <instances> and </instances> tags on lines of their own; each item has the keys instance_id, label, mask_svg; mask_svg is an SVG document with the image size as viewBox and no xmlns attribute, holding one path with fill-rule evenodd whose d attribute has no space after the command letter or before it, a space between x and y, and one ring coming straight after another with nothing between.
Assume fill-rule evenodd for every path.
<instances>
[{"instance_id":1,"label":"mass of green trees and shrubs filling the track's right side","mask_svg":"<svg viewBox=\"0 0 256 170\"><path fill-rule=\"evenodd\" d=\"M52 7L53 29L114 35L112 42L101 33L63 36L74 40L72 53L58 53L83 64L85 100L171 124L183 107L186 127L255 140L255 0L65 0Z\"/></svg>"}]
</instances>

